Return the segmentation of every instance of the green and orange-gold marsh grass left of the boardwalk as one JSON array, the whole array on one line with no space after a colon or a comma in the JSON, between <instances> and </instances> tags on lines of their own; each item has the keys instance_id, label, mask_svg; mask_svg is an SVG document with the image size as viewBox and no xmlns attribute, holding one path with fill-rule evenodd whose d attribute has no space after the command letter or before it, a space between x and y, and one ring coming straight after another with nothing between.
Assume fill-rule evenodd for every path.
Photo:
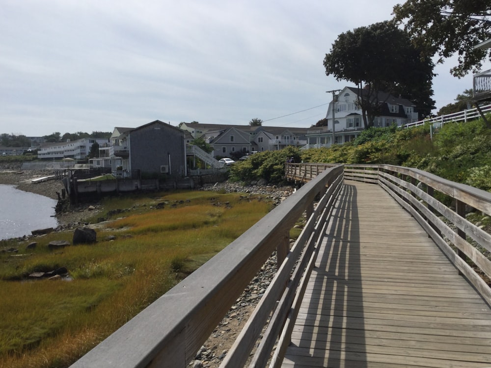
<instances>
[{"instance_id":1,"label":"green and orange-gold marsh grass left of the boardwalk","mask_svg":"<svg viewBox=\"0 0 491 368\"><path fill-rule=\"evenodd\" d=\"M0 367L68 367L271 209L259 197L201 191L107 202L108 212L133 210L98 229L96 244L51 252L49 241L73 236L55 233L34 250L19 244L23 256L0 255ZM71 281L26 279L59 267Z\"/></svg>"}]
</instances>

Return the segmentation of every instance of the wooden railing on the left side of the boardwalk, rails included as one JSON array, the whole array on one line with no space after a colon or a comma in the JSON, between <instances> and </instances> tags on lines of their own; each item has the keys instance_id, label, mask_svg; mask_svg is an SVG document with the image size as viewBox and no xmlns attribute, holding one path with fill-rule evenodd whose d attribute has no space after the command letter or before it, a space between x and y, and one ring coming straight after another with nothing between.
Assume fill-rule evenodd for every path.
<instances>
[{"instance_id":1,"label":"wooden railing on the left side of the boardwalk, rails included","mask_svg":"<svg viewBox=\"0 0 491 368\"><path fill-rule=\"evenodd\" d=\"M323 171L71 367L187 367L276 249L276 275L220 367L243 367L267 326L253 357L265 366L283 325L293 328L316 241L342 185L342 165ZM289 232L304 212L307 223L290 249ZM277 361L288 343L283 333Z\"/></svg>"}]
</instances>

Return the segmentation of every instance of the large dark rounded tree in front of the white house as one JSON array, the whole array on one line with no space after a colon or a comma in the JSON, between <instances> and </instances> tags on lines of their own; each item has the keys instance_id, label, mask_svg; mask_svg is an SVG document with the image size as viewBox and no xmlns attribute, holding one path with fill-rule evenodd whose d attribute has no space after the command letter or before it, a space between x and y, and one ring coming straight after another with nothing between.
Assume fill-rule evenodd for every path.
<instances>
[{"instance_id":1,"label":"large dark rounded tree in front of the white house","mask_svg":"<svg viewBox=\"0 0 491 368\"><path fill-rule=\"evenodd\" d=\"M358 87L358 105L365 128L381 112L379 92L409 99L429 113L434 64L422 57L407 32L386 21L342 33L324 59L326 75Z\"/></svg>"}]
</instances>

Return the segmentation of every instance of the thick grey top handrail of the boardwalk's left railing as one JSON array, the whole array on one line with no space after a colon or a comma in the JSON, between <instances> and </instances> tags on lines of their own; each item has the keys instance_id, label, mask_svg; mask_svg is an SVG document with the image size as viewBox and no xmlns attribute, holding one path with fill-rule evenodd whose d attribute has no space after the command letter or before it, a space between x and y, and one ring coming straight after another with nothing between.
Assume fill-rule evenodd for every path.
<instances>
[{"instance_id":1,"label":"thick grey top handrail of the boardwalk's left railing","mask_svg":"<svg viewBox=\"0 0 491 368\"><path fill-rule=\"evenodd\" d=\"M338 166L302 186L72 367L186 367L275 248L278 262L286 256L290 229L342 173Z\"/></svg>"}]
</instances>

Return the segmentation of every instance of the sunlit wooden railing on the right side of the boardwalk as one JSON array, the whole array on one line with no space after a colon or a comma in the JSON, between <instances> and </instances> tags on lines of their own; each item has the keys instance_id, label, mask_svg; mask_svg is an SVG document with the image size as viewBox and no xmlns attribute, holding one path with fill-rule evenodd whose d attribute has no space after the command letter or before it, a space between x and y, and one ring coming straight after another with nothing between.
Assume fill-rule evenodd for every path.
<instances>
[{"instance_id":1,"label":"sunlit wooden railing on the right side of the boardwalk","mask_svg":"<svg viewBox=\"0 0 491 368\"><path fill-rule=\"evenodd\" d=\"M357 172L368 165L345 165ZM378 170L376 167L378 166ZM426 230L446 257L491 306L491 235L468 221L468 212L491 215L491 193L469 185L451 182L422 170L371 165L365 173L378 183Z\"/></svg>"}]
</instances>

